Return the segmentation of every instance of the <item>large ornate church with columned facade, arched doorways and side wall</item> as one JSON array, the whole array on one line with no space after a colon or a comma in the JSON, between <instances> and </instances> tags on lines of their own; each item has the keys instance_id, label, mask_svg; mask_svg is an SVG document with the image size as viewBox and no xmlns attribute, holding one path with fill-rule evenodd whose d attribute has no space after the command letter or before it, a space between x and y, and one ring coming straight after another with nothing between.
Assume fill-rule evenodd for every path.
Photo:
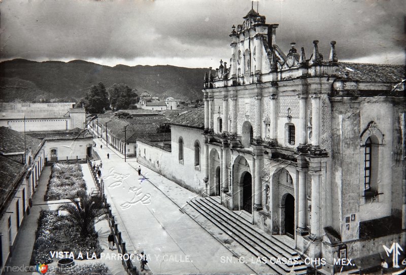
<instances>
[{"instance_id":1,"label":"large ornate church with columned facade, arched doorways and side wall","mask_svg":"<svg viewBox=\"0 0 406 275\"><path fill-rule=\"evenodd\" d=\"M328 58L317 40L309 59L285 53L277 27L251 10L228 66L205 75L207 195L327 272L379 265L383 246L405 247L404 66L339 62L335 41Z\"/></svg>"}]
</instances>

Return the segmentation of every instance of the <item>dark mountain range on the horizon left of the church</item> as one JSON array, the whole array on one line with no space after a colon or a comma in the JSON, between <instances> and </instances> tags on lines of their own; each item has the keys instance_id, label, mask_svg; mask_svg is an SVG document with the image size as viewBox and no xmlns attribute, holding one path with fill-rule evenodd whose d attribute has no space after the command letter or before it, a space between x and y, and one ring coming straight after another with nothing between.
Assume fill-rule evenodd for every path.
<instances>
[{"instance_id":1,"label":"dark mountain range on the horizon left of the church","mask_svg":"<svg viewBox=\"0 0 406 275\"><path fill-rule=\"evenodd\" d=\"M124 83L138 93L149 92L164 100L201 99L205 68L172 65L114 67L83 60L30 61L14 59L0 62L0 100L22 101L49 99L74 100L83 97L89 88L103 82L106 88Z\"/></svg>"}]
</instances>

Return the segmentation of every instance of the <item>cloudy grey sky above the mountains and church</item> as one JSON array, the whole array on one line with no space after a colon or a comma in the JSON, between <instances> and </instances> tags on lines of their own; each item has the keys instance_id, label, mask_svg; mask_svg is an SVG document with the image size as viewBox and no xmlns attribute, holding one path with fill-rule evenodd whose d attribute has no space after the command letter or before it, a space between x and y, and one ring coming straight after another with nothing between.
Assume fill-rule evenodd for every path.
<instances>
[{"instance_id":1,"label":"cloudy grey sky above the mountains and church","mask_svg":"<svg viewBox=\"0 0 406 275\"><path fill-rule=\"evenodd\" d=\"M217 67L250 9L248 0L3 0L1 59ZM328 57L335 40L339 61L404 64L404 0L260 0L258 11L279 23L285 53L296 42L310 58L319 40Z\"/></svg>"}]
</instances>

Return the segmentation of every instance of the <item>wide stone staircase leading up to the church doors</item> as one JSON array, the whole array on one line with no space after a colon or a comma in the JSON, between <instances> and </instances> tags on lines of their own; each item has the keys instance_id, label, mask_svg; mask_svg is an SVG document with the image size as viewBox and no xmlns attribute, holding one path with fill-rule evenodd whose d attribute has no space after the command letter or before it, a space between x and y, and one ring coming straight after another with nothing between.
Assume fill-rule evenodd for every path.
<instances>
[{"instance_id":1,"label":"wide stone staircase leading up to the church doors","mask_svg":"<svg viewBox=\"0 0 406 275\"><path fill-rule=\"evenodd\" d=\"M306 274L306 265L283 239L265 233L223 207L219 197L193 199L183 211L255 273Z\"/></svg>"}]
</instances>

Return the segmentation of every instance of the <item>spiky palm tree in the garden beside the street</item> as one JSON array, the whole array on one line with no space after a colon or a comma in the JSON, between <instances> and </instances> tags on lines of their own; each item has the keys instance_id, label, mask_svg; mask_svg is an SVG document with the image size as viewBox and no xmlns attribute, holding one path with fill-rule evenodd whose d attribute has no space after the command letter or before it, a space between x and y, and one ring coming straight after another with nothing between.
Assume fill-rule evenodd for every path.
<instances>
[{"instance_id":1,"label":"spiky palm tree in the garden beside the street","mask_svg":"<svg viewBox=\"0 0 406 275\"><path fill-rule=\"evenodd\" d=\"M58 210L67 212L66 219L80 228L81 236L88 236L94 231L94 224L108 218L108 211L101 206L99 198L93 198L85 190L78 195L79 198L69 198L71 203L61 205Z\"/></svg>"}]
</instances>

